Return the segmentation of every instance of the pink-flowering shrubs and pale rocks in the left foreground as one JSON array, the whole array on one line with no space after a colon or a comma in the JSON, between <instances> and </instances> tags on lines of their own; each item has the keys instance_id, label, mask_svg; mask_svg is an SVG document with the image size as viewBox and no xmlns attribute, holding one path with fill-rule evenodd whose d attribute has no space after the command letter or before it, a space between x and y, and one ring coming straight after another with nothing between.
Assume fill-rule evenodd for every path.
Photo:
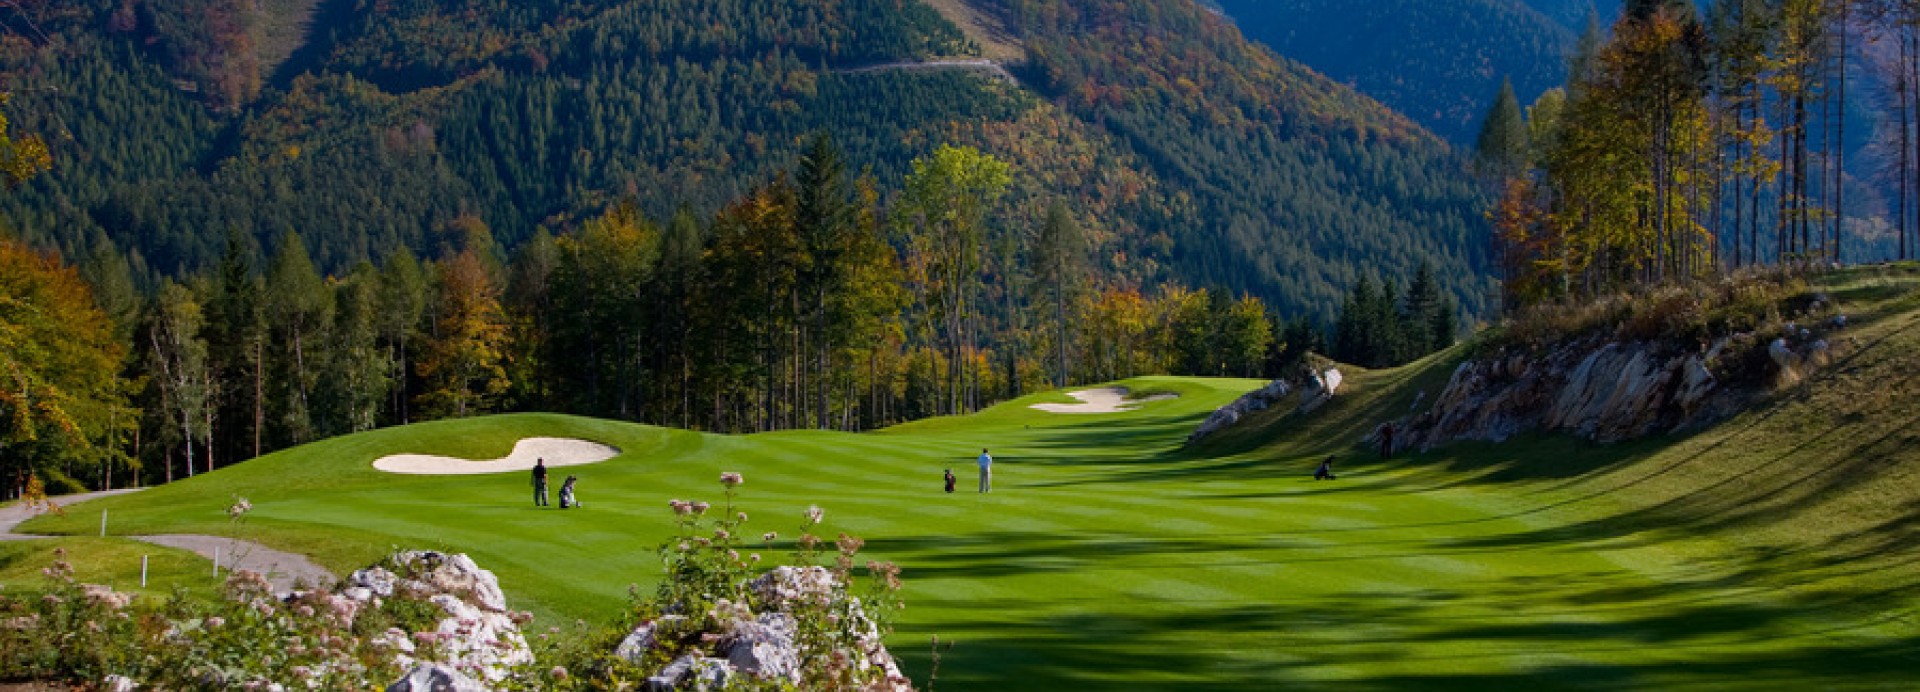
<instances>
[{"instance_id":1,"label":"pink-flowering shrubs and pale rocks in the left foreground","mask_svg":"<svg viewBox=\"0 0 1920 692\"><path fill-rule=\"evenodd\" d=\"M376 565L394 579L386 598L369 598L367 588L278 596L265 577L240 569L228 575L221 598L180 590L163 602L142 602L79 582L65 552L56 552L56 561L42 571L42 590L0 594L0 680L102 686L127 679L159 690L365 690L386 688L415 661L444 661L495 690L637 688L651 673L689 654L708 673L724 669L722 648L780 625L774 640L791 644L791 654L781 654L791 663L781 663L776 675L747 669L756 675L733 675L724 686L904 688L906 680L879 644L900 607L899 567L868 561L866 590L851 594L847 584L862 540L839 534L829 544L816 536L826 513L808 507L793 540L799 567L756 575L762 552L751 548L749 517L735 507L743 479L726 473L720 482L720 507L668 504L676 534L659 548L664 579L651 596L632 590L634 615L653 627L651 644L630 655L618 652L630 627L576 621L570 629L528 629L532 615L497 611L503 607L497 586L490 586L495 611L480 615L495 625L468 623L465 617L472 615L453 613L472 611L461 606L463 600L484 598L459 584L442 584L442 573L417 571L438 567L397 556ZM234 523L244 521L248 509L252 504L244 498L227 507ZM772 552L780 534L758 538L762 550ZM818 565L828 552L831 563ZM470 567L465 556L455 557ZM528 634L524 644L520 632ZM478 650L499 646L513 655L476 657Z\"/></svg>"}]
</instances>

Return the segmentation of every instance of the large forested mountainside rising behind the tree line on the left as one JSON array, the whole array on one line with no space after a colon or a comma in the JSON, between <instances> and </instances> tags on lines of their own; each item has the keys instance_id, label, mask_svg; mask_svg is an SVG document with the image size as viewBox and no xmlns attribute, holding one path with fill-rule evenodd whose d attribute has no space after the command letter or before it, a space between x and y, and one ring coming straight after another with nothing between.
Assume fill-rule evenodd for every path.
<instances>
[{"instance_id":1,"label":"large forested mountainside rising behind the tree line on the left","mask_svg":"<svg viewBox=\"0 0 1920 692\"><path fill-rule=\"evenodd\" d=\"M1025 44L1021 85L885 69L977 54L920 2L21 2L0 10L31 25L0 50L10 113L56 165L0 211L144 281L211 265L234 231L261 256L298 233L344 271L436 256L472 221L513 248L622 202L705 217L829 131L883 194L939 144L1012 161L995 227L1064 200L1104 283L1327 323L1357 277L1430 258L1484 306L1478 190L1411 121L1190 0L973 8Z\"/></svg>"}]
</instances>

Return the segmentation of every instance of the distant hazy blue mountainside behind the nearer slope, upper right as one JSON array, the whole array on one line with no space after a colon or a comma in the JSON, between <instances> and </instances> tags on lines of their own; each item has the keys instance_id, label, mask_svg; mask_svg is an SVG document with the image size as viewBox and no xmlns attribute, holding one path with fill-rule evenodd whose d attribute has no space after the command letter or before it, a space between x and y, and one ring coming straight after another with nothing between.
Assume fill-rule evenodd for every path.
<instances>
[{"instance_id":1,"label":"distant hazy blue mountainside behind the nearer slope, upper right","mask_svg":"<svg viewBox=\"0 0 1920 692\"><path fill-rule=\"evenodd\" d=\"M1473 144L1501 79L1513 79L1523 102L1559 86L1576 37L1521 0L1219 0L1219 6L1248 38L1354 85L1461 146Z\"/></svg>"}]
</instances>

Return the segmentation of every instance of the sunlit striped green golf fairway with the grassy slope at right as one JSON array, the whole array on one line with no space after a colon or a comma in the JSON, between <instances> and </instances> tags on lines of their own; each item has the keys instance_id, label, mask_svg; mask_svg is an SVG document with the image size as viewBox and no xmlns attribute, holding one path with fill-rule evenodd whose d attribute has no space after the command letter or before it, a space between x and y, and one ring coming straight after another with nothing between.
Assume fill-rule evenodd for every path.
<instances>
[{"instance_id":1,"label":"sunlit striped green golf fairway with the grassy slope at right","mask_svg":"<svg viewBox=\"0 0 1920 692\"><path fill-rule=\"evenodd\" d=\"M1373 461L1377 421L1438 394L1463 350L1352 371L1308 419L1265 413L1183 450L1254 381L1137 379L1181 398L1054 415L1037 394L868 434L708 436L564 415L444 421L324 440L102 500L142 532L225 532L338 571L394 546L468 552L516 607L605 619L657 579L666 500L747 475L751 532L829 532L904 567L891 644L947 688L1912 688L1920 684L1920 298L1910 271L1818 283L1857 327L1824 375L1707 431L1561 436ZM582 511L534 509L524 475L396 477L396 452L505 454L520 436L622 448ZM972 486L993 448L996 492ZM1313 463L1340 454L1340 481ZM83 507L27 531L98 531ZM98 517L98 515L94 515ZM780 546L774 552L783 554Z\"/></svg>"}]
</instances>

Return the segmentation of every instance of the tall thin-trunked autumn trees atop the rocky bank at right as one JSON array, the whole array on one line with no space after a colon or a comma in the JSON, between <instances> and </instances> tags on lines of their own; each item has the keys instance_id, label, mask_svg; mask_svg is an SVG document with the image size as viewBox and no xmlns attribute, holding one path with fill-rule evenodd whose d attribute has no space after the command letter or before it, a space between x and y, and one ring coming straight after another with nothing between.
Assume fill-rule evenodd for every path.
<instances>
[{"instance_id":1,"label":"tall thin-trunked autumn trees atop the rocky bank at right","mask_svg":"<svg viewBox=\"0 0 1920 692\"><path fill-rule=\"evenodd\" d=\"M1628 2L1580 40L1565 88L1523 111L1509 86L1486 117L1507 302L1912 258L1916 38L1903 2ZM1847 131L1859 73L1895 85L1853 92L1891 111L1874 133ZM1849 173L1862 135L1891 200Z\"/></svg>"}]
</instances>

